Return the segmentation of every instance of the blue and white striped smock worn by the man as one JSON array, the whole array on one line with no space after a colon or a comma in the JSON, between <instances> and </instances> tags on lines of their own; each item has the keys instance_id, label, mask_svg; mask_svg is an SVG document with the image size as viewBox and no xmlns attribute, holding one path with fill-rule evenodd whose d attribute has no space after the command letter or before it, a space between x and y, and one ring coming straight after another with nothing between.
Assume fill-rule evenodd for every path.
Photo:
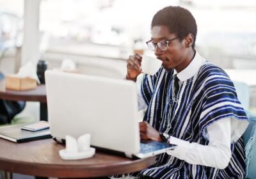
<instances>
[{"instance_id":1,"label":"blue and white striped smock worn by the man","mask_svg":"<svg viewBox=\"0 0 256 179\"><path fill-rule=\"evenodd\" d=\"M184 160L163 153L157 155L153 166L139 175L153 178L244 178L244 146L239 123L248 121L237 100L234 84L228 75L216 65L206 61L193 77L183 81L177 96L173 91L173 70L163 67L156 75L145 75L141 93L147 103L144 120L159 132L166 132L190 143L207 145L205 129L212 123L231 118L232 157L228 167L188 164Z\"/></svg>"}]
</instances>

